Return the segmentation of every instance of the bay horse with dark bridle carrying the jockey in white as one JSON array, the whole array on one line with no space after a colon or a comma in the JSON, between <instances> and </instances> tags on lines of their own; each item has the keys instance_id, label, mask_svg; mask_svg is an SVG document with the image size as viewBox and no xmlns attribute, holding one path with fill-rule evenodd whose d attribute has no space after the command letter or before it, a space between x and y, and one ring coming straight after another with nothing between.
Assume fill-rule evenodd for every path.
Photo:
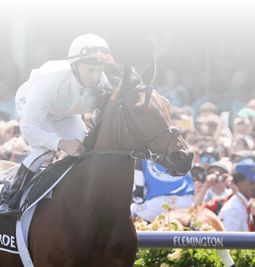
<instances>
[{"instance_id":1,"label":"bay horse with dark bridle carrying the jockey in white","mask_svg":"<svg viewBox=\"0 0 255 267\"><path fill-rule=\"evenodd\" d=\"M170 175L182 176L194 157L172 127L169 101L150 86L154 77L154 59L141 77L124 60L92 152L67 172L51 199L36 207L28 233L34 267L133 266L135 158L157 160ZM3 267L23 266L16 254L0 251L0 258Z\"/></svg>"}]
</instances>

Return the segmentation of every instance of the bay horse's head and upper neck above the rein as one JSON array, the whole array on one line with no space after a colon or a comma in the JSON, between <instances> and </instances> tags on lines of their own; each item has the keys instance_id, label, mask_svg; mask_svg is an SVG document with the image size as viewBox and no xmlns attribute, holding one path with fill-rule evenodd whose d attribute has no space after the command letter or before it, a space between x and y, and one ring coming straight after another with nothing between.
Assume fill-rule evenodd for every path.
<instances>
[{"instance_id":1,"label":"bay horse's head and upper neck above the rein","mask_svg":"<svg viewBox=\"0 0 255 267\"><path fill-rule=\"evenodd\" d=\"M110 145L110 149L130 152L150 150L170 175L181 176L191 169L194 152L172 126L169 101L150 86L155 69L151 56L140 77L129 60L124 60L121 84L106 108L101 128L108 145L98 140L95 148L109 149Z\"/></svg>"}]
</instances>

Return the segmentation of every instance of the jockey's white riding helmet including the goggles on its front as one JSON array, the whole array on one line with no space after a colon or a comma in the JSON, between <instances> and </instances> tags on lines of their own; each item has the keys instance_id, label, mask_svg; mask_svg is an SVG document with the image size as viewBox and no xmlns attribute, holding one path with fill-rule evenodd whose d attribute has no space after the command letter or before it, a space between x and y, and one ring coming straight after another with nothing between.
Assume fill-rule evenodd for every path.
<instances>
[{"instance_id":1,"label":"jockey's white riding helmet including the goggles on its front","mask_svg":"<svg viewBox=\"0 0 255 267\"><path fill-rule=\"evenodd\" d=\"M68 53L68 62L71 64L84 58L97 58L104 63L104 59L113 62L114 58L106 41L98 35L88 33L74 39Z\"/></svg>"}]
</instances>

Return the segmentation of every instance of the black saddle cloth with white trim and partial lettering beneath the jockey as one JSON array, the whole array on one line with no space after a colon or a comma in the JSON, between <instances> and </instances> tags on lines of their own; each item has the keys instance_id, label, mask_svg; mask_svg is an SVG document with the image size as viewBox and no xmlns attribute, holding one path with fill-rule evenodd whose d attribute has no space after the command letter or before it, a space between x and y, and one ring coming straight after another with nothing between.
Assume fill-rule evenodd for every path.
<instances>
[{"instance_id":1,"label":"black saddle cloth with white trim and partial lettering beneath the jockey","mask_svg":"<svg viewBox=\"0 0 255 267\"><path fill-rule=\"evenodd\" d=\"M15 219L6 219L0 216L0 250L20 254L24 266L27 266L29 262L29 266L32 267L27 249L28 230L37 203L42 198L49 198L65 174L75 163L80 163L82 160L84 159L69 156L54 164L48 165L47 168L40 168L33 178L33 180L36 180L35 184L28 187L22 196L20 206L22 207L24 202L26 202L22 217L16 221ZM13 166L0 174L1 192L7 187L11 179L13 179L19 166Z\"/></svg>"}]
</instances>

